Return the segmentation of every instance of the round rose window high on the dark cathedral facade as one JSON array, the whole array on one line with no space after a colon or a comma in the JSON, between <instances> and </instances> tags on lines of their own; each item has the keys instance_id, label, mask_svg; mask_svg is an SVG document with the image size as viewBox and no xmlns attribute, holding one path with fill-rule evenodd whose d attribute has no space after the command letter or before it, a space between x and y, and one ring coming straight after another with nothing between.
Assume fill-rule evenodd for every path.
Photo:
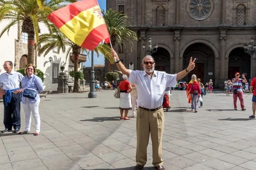
<instances>
[{"instance_id":1,"label":"round rose window high on the dark cathedral facade","mask_svg":"<svg viewBox=\"0 0 256 170\"><path fill-rule=\"evenodd\" d=\"M187 3L187 13L195 20L205 20L213 10L212 0L189 0Z\"/></svg>"}]
</instances>

